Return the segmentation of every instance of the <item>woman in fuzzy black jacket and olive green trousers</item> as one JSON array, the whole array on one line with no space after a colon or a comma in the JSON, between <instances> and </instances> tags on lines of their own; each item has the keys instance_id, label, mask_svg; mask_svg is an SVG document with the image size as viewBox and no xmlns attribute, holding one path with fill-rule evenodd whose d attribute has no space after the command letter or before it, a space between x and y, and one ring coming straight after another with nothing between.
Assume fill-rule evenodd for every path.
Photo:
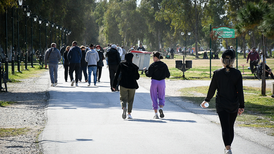
<instances>
[{"instance_id":1,"label":"woman in fuzzy black jacket and olive green trousers","mask_svg":"<svg viewBox=\"0 0 274 154\"><path fill-rule=\"evenodd\" d=\"M128 119L132 119L131 111L135 95L135 90L139 88L136 80L140 78L139 67L132 63L133 54L131 52L125 54L125 61L121 62L116 71L112 87L117 88L118 77L121 73L120 85L120 102L123 109L122 118L126 118L128 112ZM127 108L128 105L128 108Z\"/></svg>"}]
</instances>

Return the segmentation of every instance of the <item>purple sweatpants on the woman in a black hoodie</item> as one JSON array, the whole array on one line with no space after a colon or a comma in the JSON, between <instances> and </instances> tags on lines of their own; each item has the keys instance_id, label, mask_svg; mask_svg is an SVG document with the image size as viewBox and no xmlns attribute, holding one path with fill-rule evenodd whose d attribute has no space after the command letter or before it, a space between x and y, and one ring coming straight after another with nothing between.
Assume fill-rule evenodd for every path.
<instances>
[{"instance_id":1,"label":"purple sweatpants on the woman in a black hoodie","mask_svg":"<svg viewBox=\"0 0 274 154\"><path fill-rule=\"evenodd\" d=\"M162 79L160 81L151 79L150 97L152 100L153 110L158 110L158 105L165 106L165 79Z\"/></svg>"}]
</instances>

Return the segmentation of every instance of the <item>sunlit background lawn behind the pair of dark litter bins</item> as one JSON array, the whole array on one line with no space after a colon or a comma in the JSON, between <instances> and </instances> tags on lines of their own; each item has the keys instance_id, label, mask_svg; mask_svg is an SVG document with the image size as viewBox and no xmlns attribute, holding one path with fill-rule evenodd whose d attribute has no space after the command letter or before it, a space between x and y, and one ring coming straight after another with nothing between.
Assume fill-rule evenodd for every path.
<instances>
[{"instance_id":1,"label":"sunlit background lawn behind the pair of dark litter bins","mask_svg":"<svg viewBox=\"0 0 274 154\"><path fill-rule=\"evenodd\" d=\"M221 54L219 54L219 57L221 57ZM183 72L179 69L175 68L175 61L176 60L183 60L183 55L174 55L174 59L161 59L164 63L167 64L170 71L170 76L172 77L182 77ZM192 68L187 70L185 72L185 78L181 79L187 79L187 80L193 80L193 79L203 79L203 80L210 80L210 60L209 59L202 59L202 55L199 56L198 59L195 59L194 55L187 55L185 60L192 60ZM270 57L266 59L267 65L274 69L274 58ZM153 63L152 56L150 57L150 64ZM251 74L251 70L248 70L249 64L246 63L246 58L242 55L238 55L238 70L241 72L243 71L242 65L244 65L244 73L243 76L253 76ZM213 75L213 71L220 69L221 62L220 59L211 59L211 76ZM236 62L235 62L235 68L236 68ZM140 71L141 74L141 71ZM141 75L141 77L145 77L145 75ZM195 77L195 78L193 78Z\"/></svg>"}]
</instances>

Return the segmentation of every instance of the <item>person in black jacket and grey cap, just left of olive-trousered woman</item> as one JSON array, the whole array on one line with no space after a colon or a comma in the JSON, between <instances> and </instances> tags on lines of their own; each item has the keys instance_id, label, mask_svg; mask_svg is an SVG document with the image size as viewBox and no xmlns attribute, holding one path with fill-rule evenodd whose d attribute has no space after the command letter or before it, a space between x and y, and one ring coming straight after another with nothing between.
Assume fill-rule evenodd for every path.
<instances>
[{"instance_id":1,"label":"person in black jacket and grey cap, just left of olive-trousered woman","mask_svg":"<svg viewBox=\"0 0 274 154\"><path fill-rule=\"evenodd\" d=\"M110 89L112 92L114 92L115 90L112 88L112 83L117 67L121 62L120 53L117 51L117 47L115 44L111 46L111 49L106 53L105 56L108 58ZM119 91L119 89L116 89L116 91Z\"/></svg>"}]
</instances>

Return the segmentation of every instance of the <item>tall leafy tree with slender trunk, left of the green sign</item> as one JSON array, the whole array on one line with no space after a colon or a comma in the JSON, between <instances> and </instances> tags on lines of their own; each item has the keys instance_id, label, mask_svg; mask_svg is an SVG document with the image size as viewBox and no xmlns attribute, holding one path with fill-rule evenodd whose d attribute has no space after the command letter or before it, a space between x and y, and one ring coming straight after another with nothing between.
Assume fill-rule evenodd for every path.
<instances>
[{"instance_id":1,"label":"tall leafy tree with slender trunk, left of the green sign","mask_svg":"<svg viewBox=\"0 0 274 154\"><path fill-rule=\"evenodd\" d=\"M198 35L201 31L201 22L204 8L208 0L163 0L159 20L171 20L171 25L177 31L191 29L195 38L195 57L198 55ZM178 11L179 10L179 11Z\"/></svg>"}]
</instances>

